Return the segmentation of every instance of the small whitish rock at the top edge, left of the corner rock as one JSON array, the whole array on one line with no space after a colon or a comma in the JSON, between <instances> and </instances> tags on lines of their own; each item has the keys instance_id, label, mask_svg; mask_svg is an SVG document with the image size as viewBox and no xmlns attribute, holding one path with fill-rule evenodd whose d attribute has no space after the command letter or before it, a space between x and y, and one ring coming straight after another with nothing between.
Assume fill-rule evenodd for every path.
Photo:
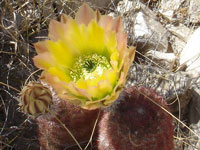
<instances>
[{"instance_id":1,"label":"small whitish rock at the top edge, left of the corner rock","mask_svg":"<svg viewBox=\"0 0 200 150\"><path fill-rule=\"evenodd\" d=\"M163 17L172 21L174 12L179 9L183 1L184 0L161 0L159 12Z\"/></svg>"}]
</instances>

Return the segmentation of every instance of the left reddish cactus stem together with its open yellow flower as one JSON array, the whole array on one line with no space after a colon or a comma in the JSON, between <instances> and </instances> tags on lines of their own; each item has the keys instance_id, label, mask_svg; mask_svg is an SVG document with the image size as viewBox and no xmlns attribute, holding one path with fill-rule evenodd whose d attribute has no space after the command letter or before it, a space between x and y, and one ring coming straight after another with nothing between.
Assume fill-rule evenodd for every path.
<instances>
[{"instance_id":1,"label":"left reddish cactus stem together with its open yellow flower","mask_svg":"<svg viewBox=\"0 0 200 150\"><path fill-rule=\"evenodd\" d=\"M34 64L43 70L42 82L56 93L51 111L78 142L88 141L98 108L111 105L126 81L135 48L127 48L120 17L100 15L83 4L75 19L51 20L49 39L34 44ZM95 109L95 110L94 110ZM43 150L62 150L76 144L54 115L37 118Z\"/></svg>"}]
</instances>

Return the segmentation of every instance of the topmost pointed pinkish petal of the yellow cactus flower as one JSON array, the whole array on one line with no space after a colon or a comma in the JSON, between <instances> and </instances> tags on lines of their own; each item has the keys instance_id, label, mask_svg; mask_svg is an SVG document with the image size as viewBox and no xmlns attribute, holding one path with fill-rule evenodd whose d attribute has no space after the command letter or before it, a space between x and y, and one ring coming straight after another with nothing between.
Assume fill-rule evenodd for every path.
<instances>
[{"instance_id":1,"label":"topmost pointed pinkish petal of the yellow cactus flower","mask_svg":"<svg viewBox=\"0 0 200 150\"><path fill-rule=\"evenodd\" d=\"M80 9L78 10L75 20L78 24L88 25L89 22L96 18L96 13L86 4L84 3Z\"/></svg>"}]
</instances>

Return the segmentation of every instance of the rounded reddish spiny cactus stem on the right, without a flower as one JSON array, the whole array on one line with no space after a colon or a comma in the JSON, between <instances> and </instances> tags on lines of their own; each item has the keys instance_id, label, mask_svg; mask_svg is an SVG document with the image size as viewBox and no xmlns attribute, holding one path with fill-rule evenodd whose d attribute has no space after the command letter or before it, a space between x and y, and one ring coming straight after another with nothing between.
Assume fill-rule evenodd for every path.
<instances>
[{"instance_id":1,"label":"rounded reddish spiny cactus stem on the right, without a flower","mask_svg":"<svg viewBox=\"0 0 200 150\"><path fill-rule=\"evenodd\" d=\"M165 101L146 88L128 88L105 110L98 129L98 150L173 150L172 117Z\"/></svg>"}]
</instances>

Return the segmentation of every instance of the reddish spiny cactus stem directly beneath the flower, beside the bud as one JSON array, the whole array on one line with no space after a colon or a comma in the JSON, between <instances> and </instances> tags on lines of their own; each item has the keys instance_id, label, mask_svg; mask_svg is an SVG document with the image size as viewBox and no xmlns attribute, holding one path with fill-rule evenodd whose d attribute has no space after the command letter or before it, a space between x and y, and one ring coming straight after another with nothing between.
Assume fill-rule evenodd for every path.
<instances>
[{"instance_id":1,"label":"reddish spiny cactus stem directly beneath the flower, beside the bud","mask_svg":"<svg viewBox=\"0 0 200 150\"><path fill-rule=\"evenodd\" d=\"M54 108L52 109L52 112L72 132L79 144L87 144L98 115L98 110L84 110L63 100L54 101ZM39 116L37 123L42 150L79 149L72 137L53 115L44 114Z\"/></svg>"}]
</instances>

